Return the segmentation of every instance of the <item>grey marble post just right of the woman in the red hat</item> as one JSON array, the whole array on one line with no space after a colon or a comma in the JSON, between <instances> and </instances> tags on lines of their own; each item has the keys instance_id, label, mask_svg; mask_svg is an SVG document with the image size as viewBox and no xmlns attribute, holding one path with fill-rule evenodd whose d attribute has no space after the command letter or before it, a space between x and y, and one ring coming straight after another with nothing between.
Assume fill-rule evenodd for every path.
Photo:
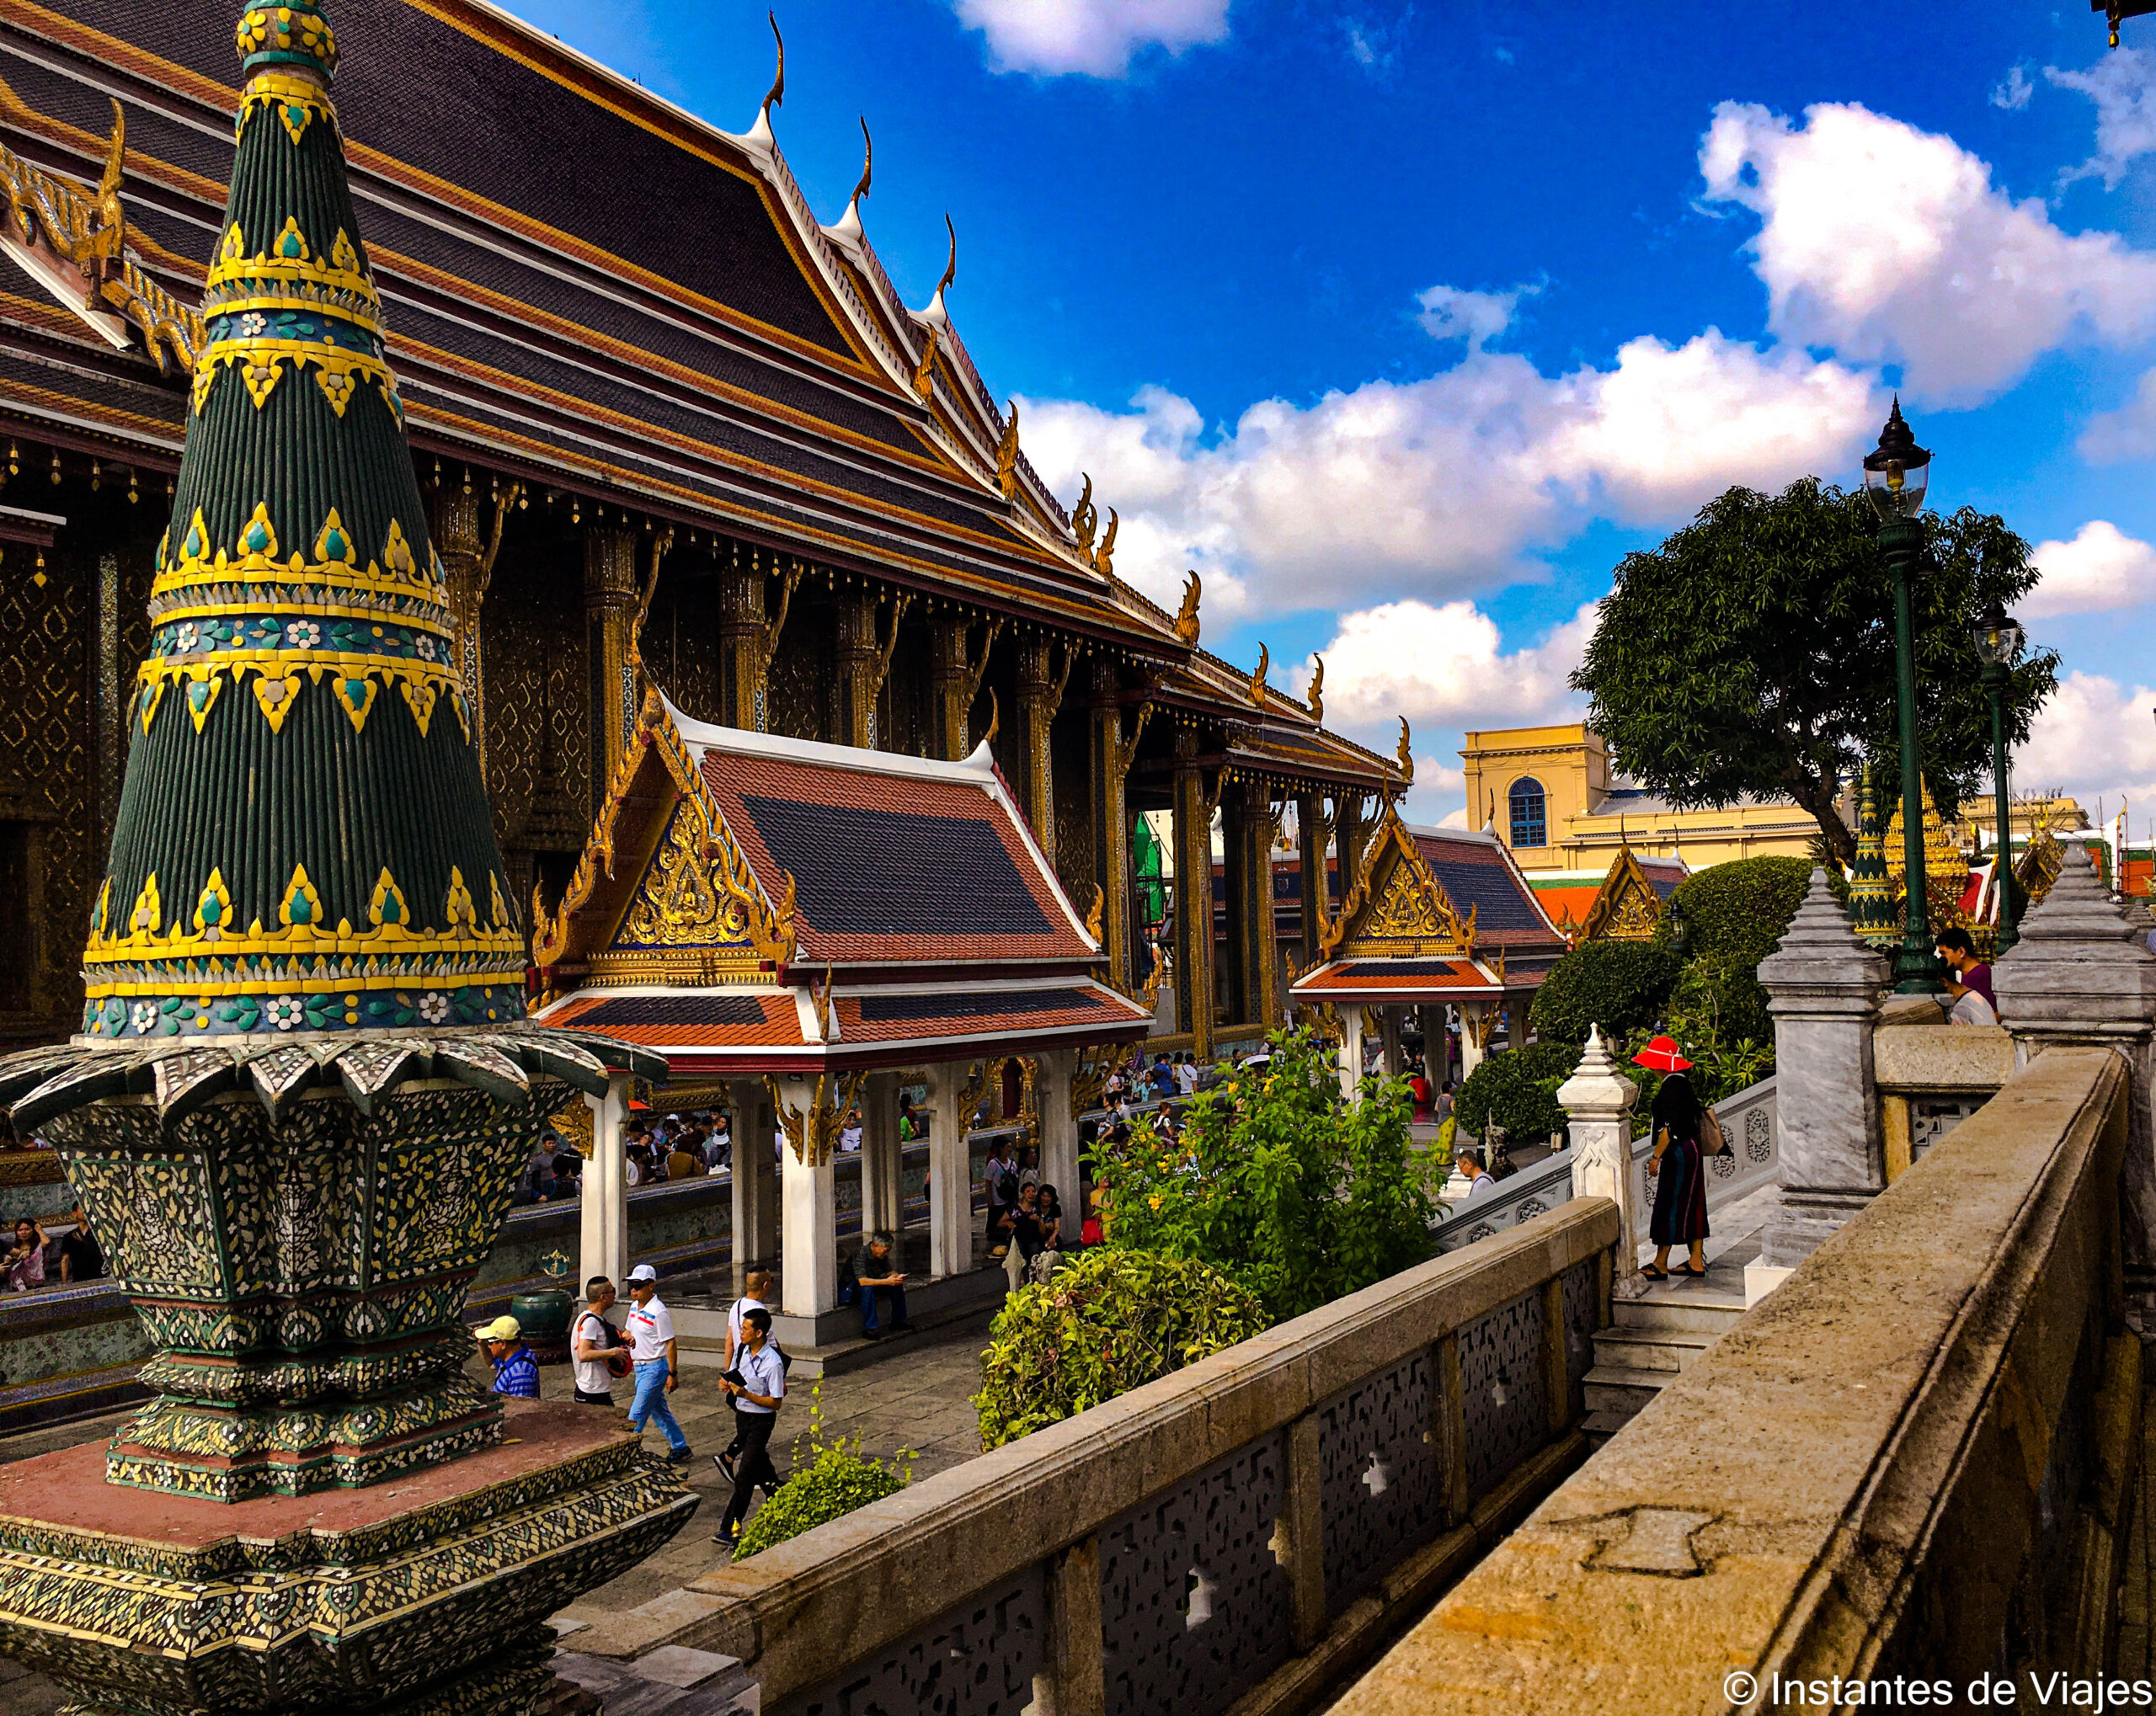
<instances>
[{"instance_id":1,"label":"grey marble post just right of the woman in the red hat","mask_svg":"<svg viewBox=\"0 0 2156 1716\"><path fill-rule=\"evenodd\" d=\"M1815 869L1781 946L1759 964L1781 1093L1781 1199L1759 1240L1768 1270L1802 1263L1887 1190L1871 1026L1889 974Z\"/></svg>"}]
</instances>

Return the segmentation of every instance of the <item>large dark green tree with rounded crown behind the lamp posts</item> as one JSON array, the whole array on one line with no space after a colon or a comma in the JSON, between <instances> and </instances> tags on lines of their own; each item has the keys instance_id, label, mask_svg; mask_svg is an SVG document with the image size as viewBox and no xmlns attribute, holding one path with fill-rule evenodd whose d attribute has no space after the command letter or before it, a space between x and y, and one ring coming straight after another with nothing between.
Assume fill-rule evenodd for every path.
<instances>
[{"instance_id":1,"label":"large dark green tree with rounded crown behind the lamp posts","mask_svg":"<svg viewBox=\"0 0 2156 1716\"><path fill-rule=\"evenodd\" d=\"M1940 815L1990 778L1990 701L1968 623L2035 586L2029 543L1992 513L1921 517L1917 729ZM1660 548L1628 554L1572 686L1617 763L1688 811L1787 795L1848 864L1835 804L1869 757L1899 780L1893 576L1861 494L1807 476L1779 496L1729 489ZM2007 686L2007 744L2059 683L2031 651Z\"/></svg>"}]
</instances>

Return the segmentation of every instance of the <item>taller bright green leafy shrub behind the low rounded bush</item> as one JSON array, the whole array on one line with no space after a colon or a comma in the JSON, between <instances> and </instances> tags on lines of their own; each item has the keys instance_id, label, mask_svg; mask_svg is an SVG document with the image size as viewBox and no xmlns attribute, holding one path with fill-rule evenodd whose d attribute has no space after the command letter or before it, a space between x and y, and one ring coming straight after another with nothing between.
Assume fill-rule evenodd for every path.
<instances>
[{"instance_id":1,"label":"taller bright green leafy shrub behind the low rounded bush","mask_svg":"<svg viewBox=\"0 0 2156 1716\"><path fill-rule=\"evenodd\" d=\"M1143 1123L1095 1151L1108 1244L1212 1263L1272 1321L1369 1287L1429 1255L1429 1160L1408 1115L1404 1080L1343 1104L1332 1052L1276 1033L1272 1065L1203 1091L1173 1143Z\"/></svg>"}]
</instances>

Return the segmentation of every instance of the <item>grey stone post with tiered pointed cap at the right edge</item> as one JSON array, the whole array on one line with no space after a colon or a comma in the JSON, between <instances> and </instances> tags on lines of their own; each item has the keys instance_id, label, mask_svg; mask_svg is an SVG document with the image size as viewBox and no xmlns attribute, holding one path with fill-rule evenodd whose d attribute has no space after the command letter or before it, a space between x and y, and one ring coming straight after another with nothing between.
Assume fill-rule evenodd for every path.
<instances>
[{"instance_id":1,"label":"grey stone post with tiered pointed cap at the right edge","mask_svg":"<svg viewBox=\"0 0 2156 1716\"><path fill-rule=\"evenodd\" d=\"M2096 880L2089 847L2070 841L2059 880L2020 921L2020 940L1992 968L1999 1022L2018 1058L2065 1043L2113 1048L2134 1069L2126 1134L2122 1250L2126 1293L2143 1332L2156 1330L2156 953L2147 931Z\"/></svg>"}]
</instances>

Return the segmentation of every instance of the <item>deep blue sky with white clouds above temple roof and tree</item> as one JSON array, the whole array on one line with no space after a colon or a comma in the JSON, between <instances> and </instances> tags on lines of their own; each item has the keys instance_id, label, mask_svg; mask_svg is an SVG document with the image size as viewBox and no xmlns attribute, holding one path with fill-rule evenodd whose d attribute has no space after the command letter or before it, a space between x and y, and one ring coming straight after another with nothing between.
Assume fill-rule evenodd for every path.
<instances>
[{"instance_id":1,"label":"deep blue sky with white clouds above temple roof and tree","mask_svg":"<svg viewBox=\"0 0 2156 1716\"><path fill-rule=\"evenodd\" d=\"M757 4L511 6L727 129L770 82ZM2156 19L2117 54L2081 0L778 22L811 203L841 213L867 114L869 237L918 306L951 213L951 313L1035 466L1093 472L1153 595L1199 567L1207 647L1322 649L1386 750L1406 714L1414 813L1457 808L1462 729L1576 707L1626 550L1733 481L1850 481L1895 386L1938 502L2044 545L2027 621L2070 679L2022 785L2156 811Z\"/></svg>"}]
</instances>

